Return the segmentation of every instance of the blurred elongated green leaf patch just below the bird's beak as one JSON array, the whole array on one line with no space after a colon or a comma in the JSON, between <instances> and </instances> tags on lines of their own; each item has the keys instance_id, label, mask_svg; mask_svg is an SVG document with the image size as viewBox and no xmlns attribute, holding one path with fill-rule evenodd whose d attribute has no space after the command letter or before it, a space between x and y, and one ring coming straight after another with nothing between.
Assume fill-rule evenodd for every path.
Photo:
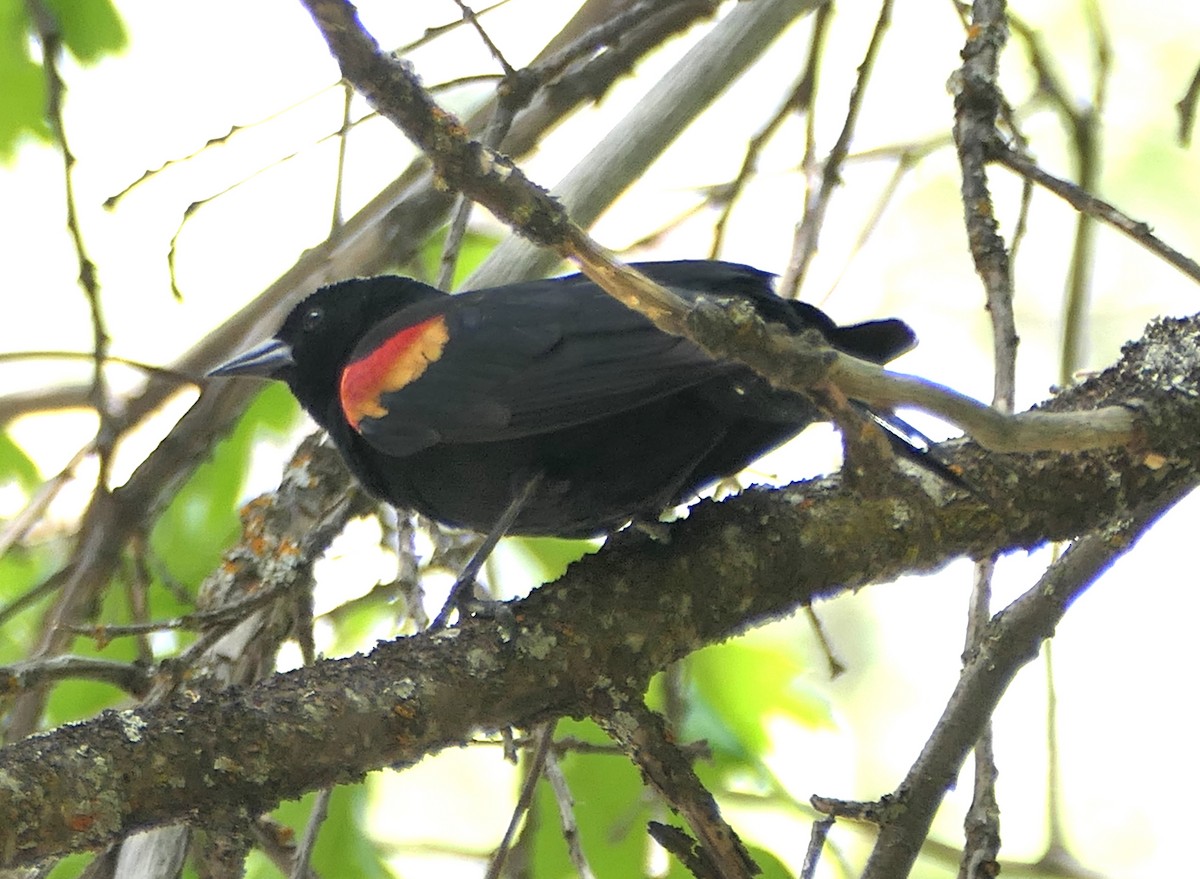
<instances>
[{"instance_id":1,"label":"blurred elongated green leaf patch just below the bird's beak","mask_svg":"<svg viewBox=\"0 0 1200 879\"><path fill-rule=\"evenodd\" d=\"M150 548L168 576L194 588L238 533L238 504L254 444L282 436L300 408L283 384L272 383L250 405L233 433L196 468L150 533Z\"/></svg>"}]
</instances>

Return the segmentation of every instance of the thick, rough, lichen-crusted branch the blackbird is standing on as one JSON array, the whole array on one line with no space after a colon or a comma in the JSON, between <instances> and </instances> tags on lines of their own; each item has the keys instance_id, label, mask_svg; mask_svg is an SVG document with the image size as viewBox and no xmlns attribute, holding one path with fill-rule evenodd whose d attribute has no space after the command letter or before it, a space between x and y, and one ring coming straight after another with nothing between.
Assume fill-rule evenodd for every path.
<instances>
[{"instance_id":1,"label":"thick, rough, lichen-crusted branch the blackbird is standing on","mask_svg":"<svg viewBox=\"0 0 1200 879\"><path fill-rule=\"evenodd\" d=\"M972 492L928 478L869 498L835 479L748 490L698 504L671 526L670 544L614 536L514 603L515 626L470 618L371 656L250 688L185 690L23 740L0 751L0 863L170 821L246 820L480 730L593 714L640 696L650 675L700 646L815 599L1166 507L1198 480L1198 401L1200 319L1162 321L1120 364L1049 403L1135 405L1153 425L1141 448L1007 458L967 442L940 449Z\"/></svg>"}]
</instances>

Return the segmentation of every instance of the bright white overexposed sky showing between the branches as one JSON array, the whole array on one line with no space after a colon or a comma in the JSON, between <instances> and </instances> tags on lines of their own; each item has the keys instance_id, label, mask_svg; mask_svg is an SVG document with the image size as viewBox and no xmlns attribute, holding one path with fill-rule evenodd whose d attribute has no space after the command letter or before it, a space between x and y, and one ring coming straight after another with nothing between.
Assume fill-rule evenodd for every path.
<instances>
[{"instance_id":1,"label":"bright white overexposed sky showing between the branches","mask_svg":"<svg viewBox=\"0 0 1200 879\"><path fill-rule=\"evenodd\" d=\"M949 2L898 5L881 68L870 85L857 145L862 149L924 138L944 131L950 98L944 83L958 64L961 34ZM1091 61L1078 4L1025 2L1018 12L1049 30L1046 44L1064 65L1080 96L1091 92ZM1103 193L1139 220L1150 222L1186 252L1200 251L1198 149L1175 143L1172 104L1200 61L1200 7L1188 4L1103 4L1115 48L1115 68L1105 114ZM241 4L160 4L126 0L121 12L131 30L127 55L79 72L68 70L70 134L79 157L78 195L91 255L100 267L113 352L149 363L170 363L196 339L290 265L301 249L328 229L335 149L307 148L340 122L338 92L326 91L269 125L240 134L227 146L168 169L113 213L101 208L144 171L198 150L209 138L271 115L319 92L336 71L312 23L298 4L262 0ZM509 59L522 64L568 14L568 4L517 0L487 19ZM848 10L848 7L846 7ZM362 4L364 17L385 44L414 38L424 28L455 17L450 2ZM875 14L858 5L844 18ZM623 83L595 112L564 125L527 168L552 184L607 127L628 102L680 54L691 38L642 66L642 78ZM865 44L863 28L840 22L830 35L823 72L818 136L828 148L840 126L848 77ZM770 60L738 83L708 118L685 132L676 149L624 198L595 229L600 241L620 247L654 231L695 202L696 186L732 178L742 142L774 110L781 83L791 80L804 55L802 25L781 41ZM452 47L452 48L450 48ZM463 32L436 50L414 56L427 83L491 70L473 37ZM1009 71L1019 70L1010 48ZM902 74L900 73L902 71ZM1008 80L1009 96L1022 98L1025 80ZM469 95L456 98L462 106ZM1070 174L1070 163L1049 113L1028 118L1027 133L1038 157ZM738 138L731 139L733 132ZM780 270L787 258L791 223L802 193L792 168L800 146L799 125L764 155L761 175L745 193L724 256ZM167 281L167 249L186 205L208 197L257 168L296 149L305 153L254 178L199 211L180 238L179 269L185 294L173 300ZM347 214L389 179L410 154L384 122L370 122L352 140ZM90 328L74 285L73 253L62 234L60 162L30 145L17 163L0 168L0 241L7 291L0 349L86 351ZM924 375L965 393L990 396L988 324L980 289L965 256L953 156L942 151L920 166L868 246L840 283L853 240L890 174L883 163L847 169L814 267L808 298L823 301L839 319L899 315L922 337L900 369ZM1016 187L997 171L1006 235L1013 225ZM1063 256L1073 215L1051 197L1038 195L1030 233L1018 263L1018 306L1022 336L1020 403L1045 396L1057 378ZM667 237L658 258L703 255L706 221ZM1172 269L1126 239L1098 234L1087 365L1100 367L1121 342L1136 337L1160 313L1189 313L1200 295ZM40 387L48 375L83 377L80 365L0 366L0 393ZM82 414L29 419L17 438L53 472L86 438ZM816 472L832 466L832 443L773 458L763 472ZM818 450L817 450L818 449ZM264 485L277 473L270 464ZM263 488L263 486L256 486ZM1063 781L1070 841L1087 866L1110 875L1157 877L1194 862L1192 819L1181 795L1200 787L1193 757L1195 659L1189 650L1200 611L1195 576L1186 573L1180 540L1194 540L1198 504L1181 506L1129 557L1120 562L1067 616L1056 641L1057 686L1062 708ZM1038 578L1048 551L1001 563L998 602L1010 600ZM917 754L953 686L961 651L962 611L970 566L956 563L935 578L868 590L822 609L844 659L857 668L835 686L853 694L839 702L844 735L817 736L781 724L776 765L794 793L870 797L889 789ZM868 627L868 632L864 632ZM912 632L919 630L919 638ZM797 628L772 629L760 638L800 636ZM874 659L874 662L868 662ZM869 668L866 668L869 665ZM1043 672L1024 674L997 716L1002 770L1006 855L1036 856L1043 844L1044 739ZM457 761L457 763L455 763ZM455 772L498 758L455 754L421 770ZM496 771L503 772L502 767ZM415 778L403 778L407 789ZM953 800L966 803L967 790ZM443 789L452 790L451 785ZM472 790L473 788L468 788ZM427 796L427 791L425 794ZM470 799L470 797L468 797ZM485 814L476 814L486 809ZM410 826L416 836L436 833L454 815L454 826L492 827L503 815L494 803L431 803ZM478 823L473 820L478 818ZM420 823L424 820L424 825ZM799 865L804 838L794 827L755 819L768 845ZM444 826L444 825L440 825ZM960 818L943 814L943 839L958 838ZM748 835L755 831L748 829Z\"/></svg>"}]
</instances>

